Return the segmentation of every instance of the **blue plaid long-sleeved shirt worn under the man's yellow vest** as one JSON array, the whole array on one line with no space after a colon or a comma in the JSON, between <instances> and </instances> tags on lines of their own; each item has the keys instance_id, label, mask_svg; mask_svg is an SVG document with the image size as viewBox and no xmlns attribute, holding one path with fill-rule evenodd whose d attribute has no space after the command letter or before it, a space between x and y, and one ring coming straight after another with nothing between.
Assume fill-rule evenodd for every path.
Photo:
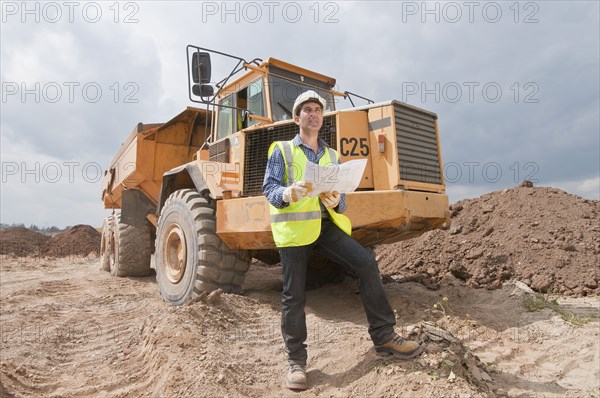
<instances>
[{"instance_id":1,"label":"blue plaid long-sleeved shirt worn under the man's yellow vest","mask_svg":"<svg viewBox=\"0 0 600 398\"><path fill-rule=\"evenodd\" d=\"M311 148L302 142L300 134L296 134L292 140L292 143L294 146L299 146L300 149L302 149L302 152L304 152L309 162L317 164L319 163L321 157L325 154L325 149L327 148L327 143L325 140L319 137L319 149L315 154ZM271 157L267 161L267 170L265 172L265 179L263 181L263 194L267 197L269 203L278 209L283 209L284 207L289 206L289 203L283 201L283 191L285 190L285 186L283 185L285 167L285 161L283 160L281 150L279 150L279 147L276 146L271 153ZM346 205L345 199L346 194L341 194L340 203L335 207L336 212L343 213L346 211L348 206ZM329 217L329 213L327 213L323 203L321 203L320 200L319 203L321 205L321 213L323 216Z\"/></svg>"}]
</instances>

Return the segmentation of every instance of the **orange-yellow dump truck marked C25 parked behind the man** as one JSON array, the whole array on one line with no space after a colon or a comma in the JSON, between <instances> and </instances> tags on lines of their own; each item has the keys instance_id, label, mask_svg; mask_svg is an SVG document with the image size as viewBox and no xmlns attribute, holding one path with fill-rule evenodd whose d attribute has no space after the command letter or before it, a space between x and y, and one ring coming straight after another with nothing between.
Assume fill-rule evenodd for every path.
<instances>
[{"instance_id":1,"label":"orange-yellow dump truck marked C25 parked behind the man","mask_svg":"<svg viewBox=\"0 0 600 398\"><path fill-rule=\"evenodd\" d=\"M235 64L216 83L211 54ZM277 263L262 195L267 150L298 132L291 109L306 90L326 99L319 134L342 162L367 159L346 196L355 239L391 243L448 221L435 113L336 91L335 79L274 58L246 61L191 45L187 58L198 107L166 123L139 123L105 172L104 206L120 211L104 221L104 270L148 275L154 253L162 297L180 305L217 288L237 291L252 258ZM336 110L357 98L367 104Z\"/></svg>"}]
</instances>

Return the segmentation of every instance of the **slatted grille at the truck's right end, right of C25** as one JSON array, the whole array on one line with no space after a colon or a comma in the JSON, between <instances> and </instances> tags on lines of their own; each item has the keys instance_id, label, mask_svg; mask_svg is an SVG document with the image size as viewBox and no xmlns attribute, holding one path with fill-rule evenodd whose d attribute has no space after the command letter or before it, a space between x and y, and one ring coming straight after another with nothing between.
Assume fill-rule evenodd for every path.
<instances>
[{"instance_id":1,"label":"slatted grille at the truck's right end, right of C25","mask_svg":"<svg viewBox=\"0 0 600 398\"><path fill-rule=\"evenodd\" d=\"M436 116L399 102L394 108L400 179L441 184Z\"/></svg>"}]
</instances>

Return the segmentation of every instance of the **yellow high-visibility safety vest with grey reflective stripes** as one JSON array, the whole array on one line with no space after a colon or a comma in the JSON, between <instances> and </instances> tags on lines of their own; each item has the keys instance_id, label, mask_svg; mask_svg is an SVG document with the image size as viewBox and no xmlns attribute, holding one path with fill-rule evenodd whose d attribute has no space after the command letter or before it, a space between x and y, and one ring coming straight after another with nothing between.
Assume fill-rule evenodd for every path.
<instances>
[{"instance_id":1,"label":"yellow high-visibility safety vest with grey reflective stripes","mask_svg":"<svg viewBox=\"0 0 600 398\"><path fill-rule=\"evenodd\" d=\"M275 146L279 147L286 165L284 184L290 186L294 181L303 180L308 159L302 148L294 145L293 141L277 141L271 144L269 157ZM332 163L332 159L337 163L339 154L327 148L319 160L319 165L327 166ZM350 235L352 232L350 219L334 210L327 209L327 211L333 222ZM273 240L277 247L309 245L316 241L321 233L321 206L318 195L313 198L305 197L298 202L290 203L283 209L270 205L270 213Z\"/></svg>"}]
</instances>

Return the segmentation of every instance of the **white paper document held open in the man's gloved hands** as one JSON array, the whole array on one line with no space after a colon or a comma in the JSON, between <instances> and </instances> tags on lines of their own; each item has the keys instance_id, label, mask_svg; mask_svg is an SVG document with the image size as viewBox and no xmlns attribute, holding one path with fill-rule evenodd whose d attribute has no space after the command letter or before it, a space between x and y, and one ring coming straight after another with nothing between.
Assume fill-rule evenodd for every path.
<instances>
[{"instance_id":1,"label":"white paper document held open in the man's gloved hands","mask_svg":"<svg viewBox=\"0 0 600 398\"><path fill-rule=\"evenodd\" d=\"M306 162L304 181L313 183L313 191L308 194L312 198L323 192L338 191L348 193L354 191L362 179L367 159L350 160L342 164L319 166Z\"/></svg>"}]
</instances>

